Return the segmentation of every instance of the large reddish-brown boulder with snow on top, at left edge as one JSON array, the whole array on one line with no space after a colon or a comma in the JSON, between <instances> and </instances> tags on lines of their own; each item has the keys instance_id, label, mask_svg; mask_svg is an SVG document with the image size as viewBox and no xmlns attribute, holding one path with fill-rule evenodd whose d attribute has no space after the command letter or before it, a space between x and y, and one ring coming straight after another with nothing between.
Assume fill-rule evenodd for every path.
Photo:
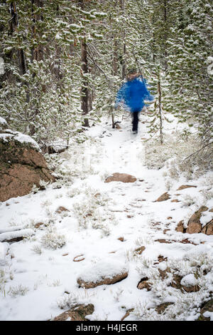
<instances>
[{"instance_id":1,"label":"large reddish-brown boulder with snow on top, at left edge","mask_svg":"<svg viewBox=\"0 0 213 335\"><path fill-rule=\"evenodd\" d=\"M0 201L27 195L40 180L55 181L37 143L11 130L0 133Z\"/></svg>"}]
</instances>

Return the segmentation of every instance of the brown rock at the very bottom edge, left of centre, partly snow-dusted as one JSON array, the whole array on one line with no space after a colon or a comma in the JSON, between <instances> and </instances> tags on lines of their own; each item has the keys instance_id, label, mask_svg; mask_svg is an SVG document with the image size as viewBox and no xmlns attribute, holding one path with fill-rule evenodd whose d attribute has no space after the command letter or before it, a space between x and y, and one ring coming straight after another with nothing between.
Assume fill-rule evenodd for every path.
<instances>
[{"instance_id":1,"label":"brown rock at the very bottom edge, left of centre, partly snow-dusted","mask_svg":"<svg viewBox=\"0 0 213 335\"><path fill-rule=\"evenodd\" d=\"M93 312L93 304L76 305L68 311L65 311L64 313L56 316L53 321L88 321L86 316L92 314Z\"/></svg>"}]
</instances>

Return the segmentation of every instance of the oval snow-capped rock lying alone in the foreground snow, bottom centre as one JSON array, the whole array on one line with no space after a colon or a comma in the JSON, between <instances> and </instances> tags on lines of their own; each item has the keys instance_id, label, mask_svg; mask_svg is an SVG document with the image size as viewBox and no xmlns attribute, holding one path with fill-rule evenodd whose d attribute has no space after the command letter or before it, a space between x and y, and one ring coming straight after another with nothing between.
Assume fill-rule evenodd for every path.
<instances>
[{"instance_id":1,"label":"oval snow-capped rock lying alone in the foreground snow, bottom centre","mask_svg":"<svg viewBox=\"0 0 213 335\"><path fill-rule=\"evenodd\" d=\"M92 289L99 285L110 285L121 282L128 276L129 270L120 262L96 263L77 278L77 284L84 289Z\"/></svg>"}]
</instances>

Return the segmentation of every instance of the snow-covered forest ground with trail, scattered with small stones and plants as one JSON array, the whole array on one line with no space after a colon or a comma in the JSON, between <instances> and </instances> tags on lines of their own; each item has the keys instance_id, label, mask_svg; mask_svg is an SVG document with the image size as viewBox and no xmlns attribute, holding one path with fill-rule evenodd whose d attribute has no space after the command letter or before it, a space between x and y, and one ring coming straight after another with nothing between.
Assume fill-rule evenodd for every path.
<instances>
[{"instance_id":1,"label":"snow-covered forest ground with trail, scattered with small stones and plants","mask_svg":"<svg viewBox=\"0 0 213 335\"><path fill-rule=\"evenodd\" d=\"M212 209L212 172L168 178L171 165L148 167L163 150L147 153L146 118L137 135L130 118L119 125L89 128L86 142L53 155L60 180L1 203L0 320L52 320L76 304L94 305L91 321L196 320L211 298L213 235L176 228L201 206ZM168 133L176 128L171 123ZM137 179L104 182L114 172ZM212 218L205 211L200 222ZM128 276L115 284L77 282L121 272Z\"/></svg>"}]
</instances>

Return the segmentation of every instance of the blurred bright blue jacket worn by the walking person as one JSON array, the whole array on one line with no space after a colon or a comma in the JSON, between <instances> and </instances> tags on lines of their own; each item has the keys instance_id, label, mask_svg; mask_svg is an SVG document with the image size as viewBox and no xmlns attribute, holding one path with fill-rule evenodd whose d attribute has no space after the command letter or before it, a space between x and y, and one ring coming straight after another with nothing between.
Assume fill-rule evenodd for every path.
<instances>
[{"instance_id":1,"label":"blurred bright blue jacket worn by the walking person","mask_svg":"<svg viewBox=\"0 0 213 335\"><path fill-rule=\"evenodd\" d=\"M153 96L146 88L146 80L142 77L133 79L132 81L126 81L119 89L116 95L115 108L118 107L121 101L124 101L124 105L131 113L140 112L145 103L144 100L153 100Z\"/></svg>"}]
</instances>

